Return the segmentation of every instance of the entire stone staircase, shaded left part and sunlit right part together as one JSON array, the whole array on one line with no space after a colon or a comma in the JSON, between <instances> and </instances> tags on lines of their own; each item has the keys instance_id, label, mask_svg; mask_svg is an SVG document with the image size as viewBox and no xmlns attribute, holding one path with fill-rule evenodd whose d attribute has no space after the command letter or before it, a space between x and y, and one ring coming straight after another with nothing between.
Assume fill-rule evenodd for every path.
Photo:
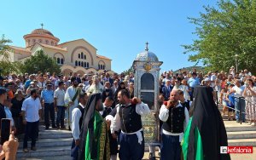
<instances>
[{"instance_id":1,"label":"entire stone staircase, shaded left part and sunlit right part together","mask_svg":"<svg viewBox=\"0 0 256 160\"><path fill-rule=\"evenodd\" d=\"M218 107L222 112L222 106ZM228 121L228 117L224 116L224 124L228 134L229 146L256 146L256 127L248 126L245 123L236 123L236 121ZM69 160L70 148L73 140L71 131L68 130L45 130L43 123L40 123L39 136L37 141L37 151L29 151L23 153L22 138L17 152L19 160ZM28 141L30 149L31 142Z\"/></svg>"}]
</instances>

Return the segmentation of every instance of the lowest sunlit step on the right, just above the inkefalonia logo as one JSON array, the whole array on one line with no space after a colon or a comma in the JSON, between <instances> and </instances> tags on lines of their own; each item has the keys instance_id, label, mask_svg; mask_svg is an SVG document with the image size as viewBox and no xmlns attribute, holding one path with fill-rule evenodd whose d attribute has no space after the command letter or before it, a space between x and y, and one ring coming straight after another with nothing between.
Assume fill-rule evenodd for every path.
<instances>
[{"instance_id":1,"label":"lowest sunlit step on the right, just above the inkefalonia logo","mask_svg":"<svg viewBox=\"0 0 256 160\"><path fill-rule=\"evenodd\" d=\"M228 140L229 146L256 146L256 139Z\"/></svg>"}]
</instances>

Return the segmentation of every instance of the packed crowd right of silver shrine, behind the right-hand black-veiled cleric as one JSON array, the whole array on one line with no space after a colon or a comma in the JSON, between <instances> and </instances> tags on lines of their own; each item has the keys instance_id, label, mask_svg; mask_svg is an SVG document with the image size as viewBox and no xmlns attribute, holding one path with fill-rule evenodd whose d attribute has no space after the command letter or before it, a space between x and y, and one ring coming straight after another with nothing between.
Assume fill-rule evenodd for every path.
<instances>
[{"instance_id":1,"label":"packed crowd right of silver shrine, behind the right-hand black-veiled cleric","mask_svg":"<svg viewBox=\"0 0 256 160\"><path fill-rule=\"evenodd\" d=\"M256 126L256 77L247 69L239 72L234 66L229 72L209 71L165 71L160 77L160 92L168 100L172 89L181 89L186 100L193 100L194 89L204 85L212 89L214 100L223 106L223 116L227 113L228 120L241 121ZM240 114L241 111L241 114Z\"/></svg>"}]
</instances>

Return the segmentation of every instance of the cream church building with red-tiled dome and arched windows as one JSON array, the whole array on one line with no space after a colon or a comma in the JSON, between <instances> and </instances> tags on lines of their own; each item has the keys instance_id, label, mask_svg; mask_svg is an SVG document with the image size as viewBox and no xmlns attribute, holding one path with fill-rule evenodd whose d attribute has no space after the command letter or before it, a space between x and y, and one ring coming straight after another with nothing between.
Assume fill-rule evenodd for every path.
<instances>
[{"instance_id":1,"label":"cream church building with red-tiled dome and arched windows","mask_svg":"<svg viewBox=\"0 0 256 160\"><path fill-rule=\"evenodd\" d=\"M43 29L42 25L42 28L26 34L24 39L25 48L10 46L11 61L22 62L42 49L44 54L55 58L56 63L61 66L63 75L69 75L74 71L81 75L103 71L113 74L111 60L97 54L97 49L83 38L59 43L60 39L50 31Z\"/></svg>"}]
</instances>

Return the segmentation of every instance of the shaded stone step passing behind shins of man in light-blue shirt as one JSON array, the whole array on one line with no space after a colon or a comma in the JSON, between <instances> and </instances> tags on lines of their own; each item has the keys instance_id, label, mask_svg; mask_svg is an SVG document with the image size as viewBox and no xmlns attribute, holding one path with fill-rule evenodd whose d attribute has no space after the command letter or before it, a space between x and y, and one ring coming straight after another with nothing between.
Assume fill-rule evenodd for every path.
<instances>
[{"instance_id":1,"label":"shaded stone step passing behind shins of man in light-blue shirt","mask_svg":"<svg viewBox=\"0 0 256 160\"><path fill-rule=\"evenodd\" d=\"M52 146L71 146L73 138L65 138L65 139L39 139L36 143L37 148L42 147L52 147ZM31 141L27 142L28 148L30 148ZM22 150L23 142L20 141L20 150Z\"/></svg>"}]
</instances>

